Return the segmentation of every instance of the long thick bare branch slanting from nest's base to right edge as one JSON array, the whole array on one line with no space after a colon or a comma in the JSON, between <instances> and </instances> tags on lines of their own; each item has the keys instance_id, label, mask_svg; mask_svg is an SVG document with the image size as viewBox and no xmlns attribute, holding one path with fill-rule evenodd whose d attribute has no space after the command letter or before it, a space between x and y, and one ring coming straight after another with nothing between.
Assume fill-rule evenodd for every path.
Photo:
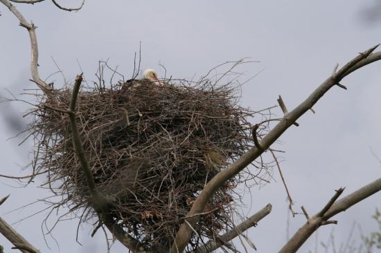
<instances>
[{"instance_id":1,"label":"long thick bare branch slanting from nest's base to right edge","mask_svg":"<svg viewBox=\"0 0 381 253\"><path fill-rule=\"evenodd\" d=\"M352 73L353 71L365 66L366 64L370 64L372 62L378 61L381 59L381 52L372 54L373 50L375 50L377 46L366 50L364 53L361 53L357 57L353 58L348 64L342 67L336 73L333 73L324 81L317 89L315 89L311 95L299 106L297 106L294 110L285 114L281 121L276 124L272 131L269 131L267 135L260 142L261 149L258 147L252 147L242 155L236 162L233 162L232 165L220 171L217 175L215 175L204 187L200 195L196 198L193 203L192 208L188 212L187 216L192 216L194 214L202 212L206 203L209 202L211 196L215 193L215 191L220 188L224 182L236 176L242 169L245 169L247 165L256 160L262 153L263 150L266 150L272 145L292 124L296 122L297 119L301 117L306 111L310 110L314 104L319 101L324 94L330 90L333 86L336 86L346 75ZM199 217L195 216L193 218L187 219L190 225L194 226L197 223ZM188 244L192 231L183 223L177 232L175 242L172 244L171 253L183 252L186 245Z\"/></svg>"}]
</instances>

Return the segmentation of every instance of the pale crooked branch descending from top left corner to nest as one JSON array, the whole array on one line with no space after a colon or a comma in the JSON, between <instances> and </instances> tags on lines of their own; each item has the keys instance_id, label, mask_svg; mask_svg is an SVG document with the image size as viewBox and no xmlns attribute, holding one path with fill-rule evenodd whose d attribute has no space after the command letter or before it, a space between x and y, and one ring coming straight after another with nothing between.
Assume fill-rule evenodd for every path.
<instances>
[{"instance_id":1,"label":"pale crooked branch descending from top left corner to nest","mask_svg":"<svg viewBox=\"0 0 381 253\"><path fill-rule=\"evenodd\" d=\"M33 24L33 22L28 23L23 15L21 15L21 12L19 12L15 6L12 5L8 0L0 0L3 5L7 6L10 12L17 17L20 21L20 26L26 28L29 33L30 37L30 46L32 50L32 59L30 62L30 73L32 74L33 81L39 86L39 88L42 89L44 93L47 93L48 91L51 91L51 87L46 84L40 77L38 73L38 45L37 45L37 36L36 36L36 26Z\"/></svg>"}]
</instances>

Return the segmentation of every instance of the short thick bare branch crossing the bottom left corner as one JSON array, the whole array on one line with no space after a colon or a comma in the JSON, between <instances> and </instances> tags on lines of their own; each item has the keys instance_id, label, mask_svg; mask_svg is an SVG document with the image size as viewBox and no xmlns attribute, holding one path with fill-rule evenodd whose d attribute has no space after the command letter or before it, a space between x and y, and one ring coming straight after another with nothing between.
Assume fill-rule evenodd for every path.
<instances>
[{"instance_id":1,"label":"short thick bare branch crossing the bottom left corner","mask_svg":"<svg viewBox=\"0 0 381 253\"><path fill-rule=\"evenodd\" d=\"M0 200L0 205L6 201L9 197L6 196ZM0 234L3 234L4 237L10 241L13 245L15 245L15 249L20 250L23 253L40 253L33 245L31 245L24 237L22 237L19 233L16 232L6 221L0 218Z\"/></svg>"}]
</instances>

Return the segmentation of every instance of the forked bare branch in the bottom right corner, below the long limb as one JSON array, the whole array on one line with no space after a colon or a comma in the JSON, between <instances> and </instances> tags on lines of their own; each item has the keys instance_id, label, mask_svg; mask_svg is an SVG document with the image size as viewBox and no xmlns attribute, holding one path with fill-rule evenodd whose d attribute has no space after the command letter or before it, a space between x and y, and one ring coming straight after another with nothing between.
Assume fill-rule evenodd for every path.
<instances>
[{"instance_id":1,"label":"forked bare branch in the bottom right corner, below the long limb","mask_svg":"<svg viewBox=\"0 0 381 253\"><path fill-rule=\"evenodd\" d=\"M341 190L344 190L341 188ZM303 245L303 243L310 237L310 235L315 232L321 225L327 224L336 224L337 221L328 221L329 218L332 218L340 212L344 212L349 207L359 203L361 200L368 198L369 196L375 194L378 191L381 191L381 178L371 182L369 185L366 185L357 191L354 191L352 194L349 194L345 198L335 202L337 197L340 194L340 189L336 192L335 196L330 199L326 207L324 207L321 212L315 214L312 218L308 219L307 223L301 227L294 236L288 241L279 253L290 253L296 252L296 250ZM341 191L342 192L342 191ZM322 212L324 214L322 215Z\"/></svg>"}]
</instances>

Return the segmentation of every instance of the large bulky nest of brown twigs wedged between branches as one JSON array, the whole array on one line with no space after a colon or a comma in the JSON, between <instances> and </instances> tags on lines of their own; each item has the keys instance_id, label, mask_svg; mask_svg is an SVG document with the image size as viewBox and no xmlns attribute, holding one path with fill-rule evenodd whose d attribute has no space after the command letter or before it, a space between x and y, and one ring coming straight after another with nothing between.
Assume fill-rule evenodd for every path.
<instances>
[{"instance_id":1,"label":"large bulky nest of brown twigs wedged between branches","mask_svg":"<svg viewBox=\"0 0 381 253\"><path fill-rule=\"evenodd\" d=\"M71 89L39 96L33 111L37 172L80 222L98 221L73 149ZM146 79L110 88L83 88L76 117L96 187L110 214L145 247L170 247L206 182L252 147L249 118L235 88L209 81L157 86ZM213 195L197 222L188 250L231 229L238 178ZM78 215L78 214L77 214ZM94 223L95 224L95 223Z\"/></svg>"}]
</instances>

